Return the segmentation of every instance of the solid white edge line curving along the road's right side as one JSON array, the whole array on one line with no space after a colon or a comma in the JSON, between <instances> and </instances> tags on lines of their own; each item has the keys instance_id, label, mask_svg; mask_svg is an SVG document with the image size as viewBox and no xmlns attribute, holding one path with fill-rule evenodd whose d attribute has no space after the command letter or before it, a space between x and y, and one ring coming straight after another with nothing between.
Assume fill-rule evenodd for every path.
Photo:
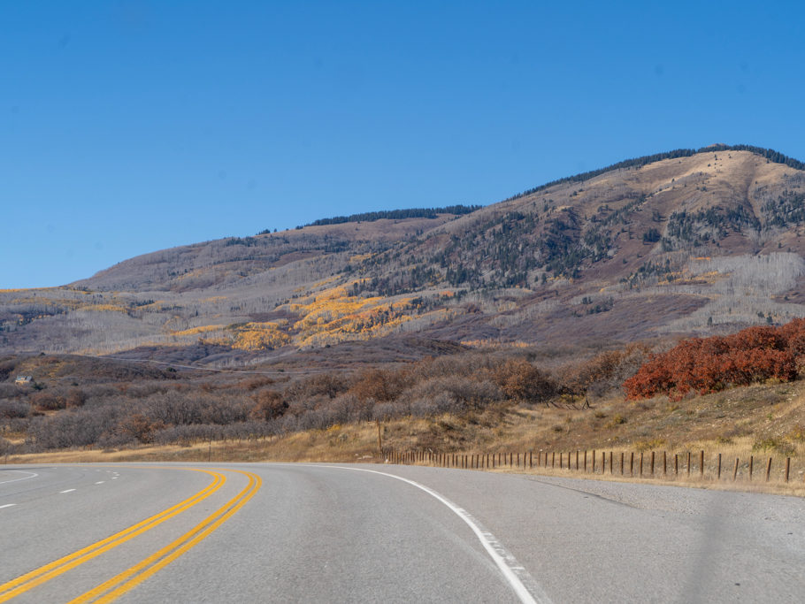
<instances>
[{"instance_id":1,"label":"solid white edge line curving along the road's right side","mask_svg":"<svg viewBox=\"0 0 805 604\"><path fill-rule=\"evenodd\" d=\"M312 464L311 464L312 465ZM313 467L316 468L336 468L338 470L353 470L357 472L371 472L372 474L380 474L381 476L387 476L389 478L395 478L397 480L402 480L403 482L407 482L409 485L416 486L418 489L421 489L435 497L437 500L441 501L444 505L450 508L456 516L460 517L464 520L464 523L469 525L472 529L472 532L475 533L475 536L478 537L481 545L483 545L484 549L487 550L487 554L492 557L492 560L495 561L497 564L498 569L501 570L503 573L503 577L506 577L506 580L509 582L509 585L517 593L517 597L520 599L521 602L524 604L539 604L540 602L543 604L550 604L550 599L548 595L540 589L539 585L535 585L536 582L531 580L529 583L531 585L531 589L527 588L523 582L520 580L520 577L517 577L517 573L515 569L519 570L520 573L523 573L527 576L527 571L525 567L523 567L517 559L510 554L505 547L502 546L501 542L495 538L489 531L485 531L481 529L477 520L475 520L469 512L467 512L463 508L459 508L456 506L455 503L450 501L447 497L437 493L432 488L426 485L422 485L414 480L410 480L408 478L403 478L402 476L396 476L395 474L389 474L387 472L380 472L378 470L366 470L364 468L348 468L346 466L333 466L333 465L315 465ZM496 545L496 547L495 547ZM529 577L530 578L530 577ZM536 593L534 593L536 592Z\"/></svg>"}]
</instances>

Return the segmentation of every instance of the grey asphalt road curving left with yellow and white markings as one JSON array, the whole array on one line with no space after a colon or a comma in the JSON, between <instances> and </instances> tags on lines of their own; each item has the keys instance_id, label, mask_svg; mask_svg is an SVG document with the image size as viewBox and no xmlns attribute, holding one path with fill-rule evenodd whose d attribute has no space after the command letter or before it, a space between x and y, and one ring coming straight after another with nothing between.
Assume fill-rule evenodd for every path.
<instances>
[{"instance_id":1,"label":"grey asphalt road curving left with yellow and white markings","mask_svg":"<svg viewBox=\"0 0 805 604\"><path fill-rule=\"evenodd\" d=\"M805 500L472 470L0 466L0 603L801 602Z\"/></svg>"}]
</instances>

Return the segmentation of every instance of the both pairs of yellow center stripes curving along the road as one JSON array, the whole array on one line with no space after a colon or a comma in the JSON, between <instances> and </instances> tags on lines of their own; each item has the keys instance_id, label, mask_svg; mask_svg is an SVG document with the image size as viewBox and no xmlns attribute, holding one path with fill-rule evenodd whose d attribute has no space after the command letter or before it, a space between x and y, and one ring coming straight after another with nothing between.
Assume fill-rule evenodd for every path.
<instances>
[{"instance_id":1,"label":"both pairs of yellow center stripes curving along the road","mask_svg":"<svg viewBox=\"0 0 805 604\"><path fill-rule=\"evenodd\" d=\"M221 488L226 483L226 477L216 471L211 470L195 470L210 474L213 481L210 485L199 491L192 497L185 501L180 501L175 506L165 509L156 516L146 518L141 523L134 524L127 529L111 535L106 539L97 541L91 546L84 547L73 554L66 555L54 562L50 562L39 569L27 572L11 581L0 585L0 604L2 602L11 600L18 596L20 593L25 593L33 589L37 585L42 585L46 581L54 577L72 570L76 566L92 560L98 555L109 551L113 547L125 543L129 539L141 535L145 531L164 523L166 520L177 516L188 508L192 508L201 501L207 499L212 493ZM139 585L154 575L158 570L165 568L168 564L176 560L181 554L185 554L191 547L195 547L202 539L207 537L212 531L215 531L221 524L233 516L240 508L246 505L262 484L262 480L256 474L245 472L242 470L229 470L235 471L249 478L249 484L233 499L227 501L221 508L217 509L210 516L196 524L190 531L186 532L179 539L175 539L169 545L160 549L156 554L150 555L148 558L135 564L128 570L125 570L119 575L112 577L103 584L98 585L96 588L80 595L78 598L71 600L71 604L78 602L111 602L123 593L126 593L134 586Z\"/></svg>"}]
</instances>

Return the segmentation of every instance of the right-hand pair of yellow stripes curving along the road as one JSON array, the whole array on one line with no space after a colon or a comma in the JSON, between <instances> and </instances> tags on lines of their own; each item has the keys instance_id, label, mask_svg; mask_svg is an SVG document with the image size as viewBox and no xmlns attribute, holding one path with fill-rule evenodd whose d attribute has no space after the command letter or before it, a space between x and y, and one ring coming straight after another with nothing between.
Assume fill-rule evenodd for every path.
<instances>
[{"instance_id":1,"label":"right-hand pair of yellow stripes curving along the road","mask_svg":"<svg viewBox=\"0 0 805 604\"><path fill-rule=\"evenodd\" d=\"M135 564L130 569L111 577L108 581L80 595L78 598L70 600L68 604L85 604L90 601L97 604L106 604L118 599L124 593L153 576L157 571L164 569L165 566L176 560L180 555L188 552L190 548L196 547L202 539L212 531L215 531L221 524L224 524L235 512L246 505L246 502L257 493L260 485L263 484L257 474L242 470L228 471L239 472L249 477L249 484L233 499L227 501L223 507L207 516L200 524L197 524L179 539L174 540L173 543L160 549L156 554L149 555L148 558Z\"/></svg>"}]
</instances>

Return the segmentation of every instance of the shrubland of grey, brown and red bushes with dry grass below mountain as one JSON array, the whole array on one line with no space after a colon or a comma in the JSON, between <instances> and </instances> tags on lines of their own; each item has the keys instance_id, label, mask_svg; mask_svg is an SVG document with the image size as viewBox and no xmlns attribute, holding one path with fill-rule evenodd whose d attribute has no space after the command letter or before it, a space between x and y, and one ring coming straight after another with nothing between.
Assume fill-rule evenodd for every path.
<instances>
[{"instance_id":1,"label":"shrubland of grey, brown and red bushes with dry grass below mountain","mask_svg":"<svg viewBox=\"0 0 805 604\"><path fill-rule=\"evenodd\" d=\"M0 358L0 453L200 443L211 450L213 443L241 442L273 458L344 459L378 454L375 427L366 440L372 425L384 451L714 442L727 451L799 455L803 342L805 319L797 319L653 348L465 348L307 373L211 374L79 356L9 356ZM35 375L34 384L13 384L24 373Z\"/></svg>"}]
</instances>

